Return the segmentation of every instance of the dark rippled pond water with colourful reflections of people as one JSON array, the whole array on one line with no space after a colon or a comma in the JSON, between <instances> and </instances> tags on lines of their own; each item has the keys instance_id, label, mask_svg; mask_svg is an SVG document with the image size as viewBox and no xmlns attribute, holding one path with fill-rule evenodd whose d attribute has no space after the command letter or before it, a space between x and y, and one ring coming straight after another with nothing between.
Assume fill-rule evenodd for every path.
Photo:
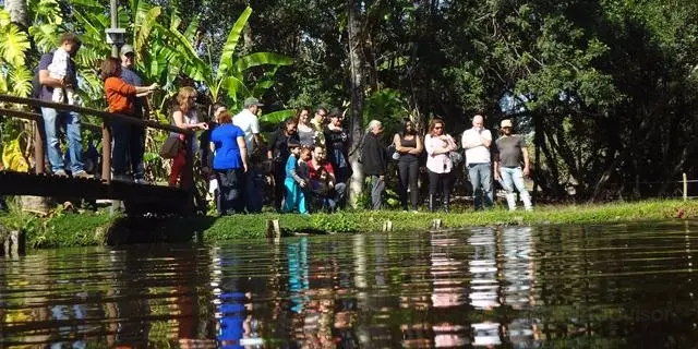
<instances>
[{"instance_id":1,"label":"dark rippled pond water with colourful reflections of people","mask_svg":"<svg viewBox=\"0 0 698 349\"><path fill-rule=\"evenodd\" d=\"M690 348L698 221L0 258L0 347Z\"/></svg>"}]
</instances>

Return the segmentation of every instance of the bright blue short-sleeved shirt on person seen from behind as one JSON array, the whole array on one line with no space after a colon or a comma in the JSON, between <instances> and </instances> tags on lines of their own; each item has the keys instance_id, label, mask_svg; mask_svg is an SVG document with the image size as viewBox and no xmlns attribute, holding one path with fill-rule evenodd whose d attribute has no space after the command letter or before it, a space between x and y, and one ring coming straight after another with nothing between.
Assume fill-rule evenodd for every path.
<instances>
[{"instance_id":1,"label":"bright blue short-sleeved shirt on person seen from behind","mask_svg":"<svg viewBox=\"0 0 698 349\"><path fill-rule=\"evenodd\" d=\"M230 170L242 167L238 137L244 137L244 132L232 123L221 124L210 133L210 142L215 146L215 170Z\"/></svg>"}]
</instances>

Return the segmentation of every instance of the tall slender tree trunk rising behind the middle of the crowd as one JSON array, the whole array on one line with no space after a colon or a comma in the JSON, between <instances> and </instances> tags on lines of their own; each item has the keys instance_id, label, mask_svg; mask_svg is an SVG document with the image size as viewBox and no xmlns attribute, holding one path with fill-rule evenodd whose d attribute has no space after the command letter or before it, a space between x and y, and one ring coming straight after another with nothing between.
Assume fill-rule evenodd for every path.
<instances>
[{"instance_id":1,"label":"tall slender tree trunk rising behind the middle of the crowd","mask_svg":"<svg viewBox=\"0 0 698 349\"><path fill-rule=\"evenodd\" d=\"M360 35L360 12L358 3L347 0L348 14L348 41L349 41L349 65L351 82L351 108L349 110L349 124L351 134L351 152L349 161L353 171L349 182L349 203L356 207L357 198L361 194L363 181L363 166L359 164L359 147L361 146L361 135L363 131L363 57Z\"/></svg>"}]
</instances>

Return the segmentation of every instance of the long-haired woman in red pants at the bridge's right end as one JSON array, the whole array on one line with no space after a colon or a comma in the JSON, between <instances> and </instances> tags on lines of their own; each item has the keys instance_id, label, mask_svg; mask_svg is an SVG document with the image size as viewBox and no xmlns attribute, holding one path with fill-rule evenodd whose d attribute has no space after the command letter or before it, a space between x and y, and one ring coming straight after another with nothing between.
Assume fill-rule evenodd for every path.
<instances>
[{"instance_id":1,"label":"long-haired woman in red pants at the bridge's right end","mask_svg":"<svg viewBox=\"0 0 698 349\"><path fill-rule=\"evenodd\" d=\"M208 124L206 122L198 121L198 112L196 112L195 101L196 101L197 93L194 87L182 87L179 89L177 94L177 105L174 106L174 111L172 112L172 123L184 130L208 130ZM179 152L177 156L172 159L172 168L170 170L170 176L167 180L170 186L177 186L177 182L180 182L180 188L186 188L191 184L191 178L184 178L182 174L185 173L184 166L186 166L186 154L188 152L192 152L192 154L196 154L197 144L196 142L192 142L190 144L189 140L183 134L179 134L176 132L171 132L170 136L179 136L181 142Z\"/></svg>"}]
</instances>

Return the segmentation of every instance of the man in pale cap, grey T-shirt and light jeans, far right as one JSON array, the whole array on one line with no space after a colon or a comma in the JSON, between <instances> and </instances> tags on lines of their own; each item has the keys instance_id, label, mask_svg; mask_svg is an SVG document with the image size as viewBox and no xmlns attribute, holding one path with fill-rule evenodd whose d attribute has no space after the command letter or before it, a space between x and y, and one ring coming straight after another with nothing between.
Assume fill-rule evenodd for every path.
<instances>
[{"instance_id":1,"label":"man in pale cap, grey T-shirt and light jeans, far right","mask_svg":"<svg viewBox=\"0 0 698 349\"><path fill-rule=\"evenodd\" d=\"M494 178L502 182L502 186L506 191L506 203L509 210L516 209L514 185L519 191L526 210L532 210L531 195L524 183L524 176L530 173L526 140L519 134L514 134L512 120L502 120L501 128L502 136L496 141L500 160L494 163ZM521 168L521 163L524 168Z\"/></svg>"}]
</instances>

